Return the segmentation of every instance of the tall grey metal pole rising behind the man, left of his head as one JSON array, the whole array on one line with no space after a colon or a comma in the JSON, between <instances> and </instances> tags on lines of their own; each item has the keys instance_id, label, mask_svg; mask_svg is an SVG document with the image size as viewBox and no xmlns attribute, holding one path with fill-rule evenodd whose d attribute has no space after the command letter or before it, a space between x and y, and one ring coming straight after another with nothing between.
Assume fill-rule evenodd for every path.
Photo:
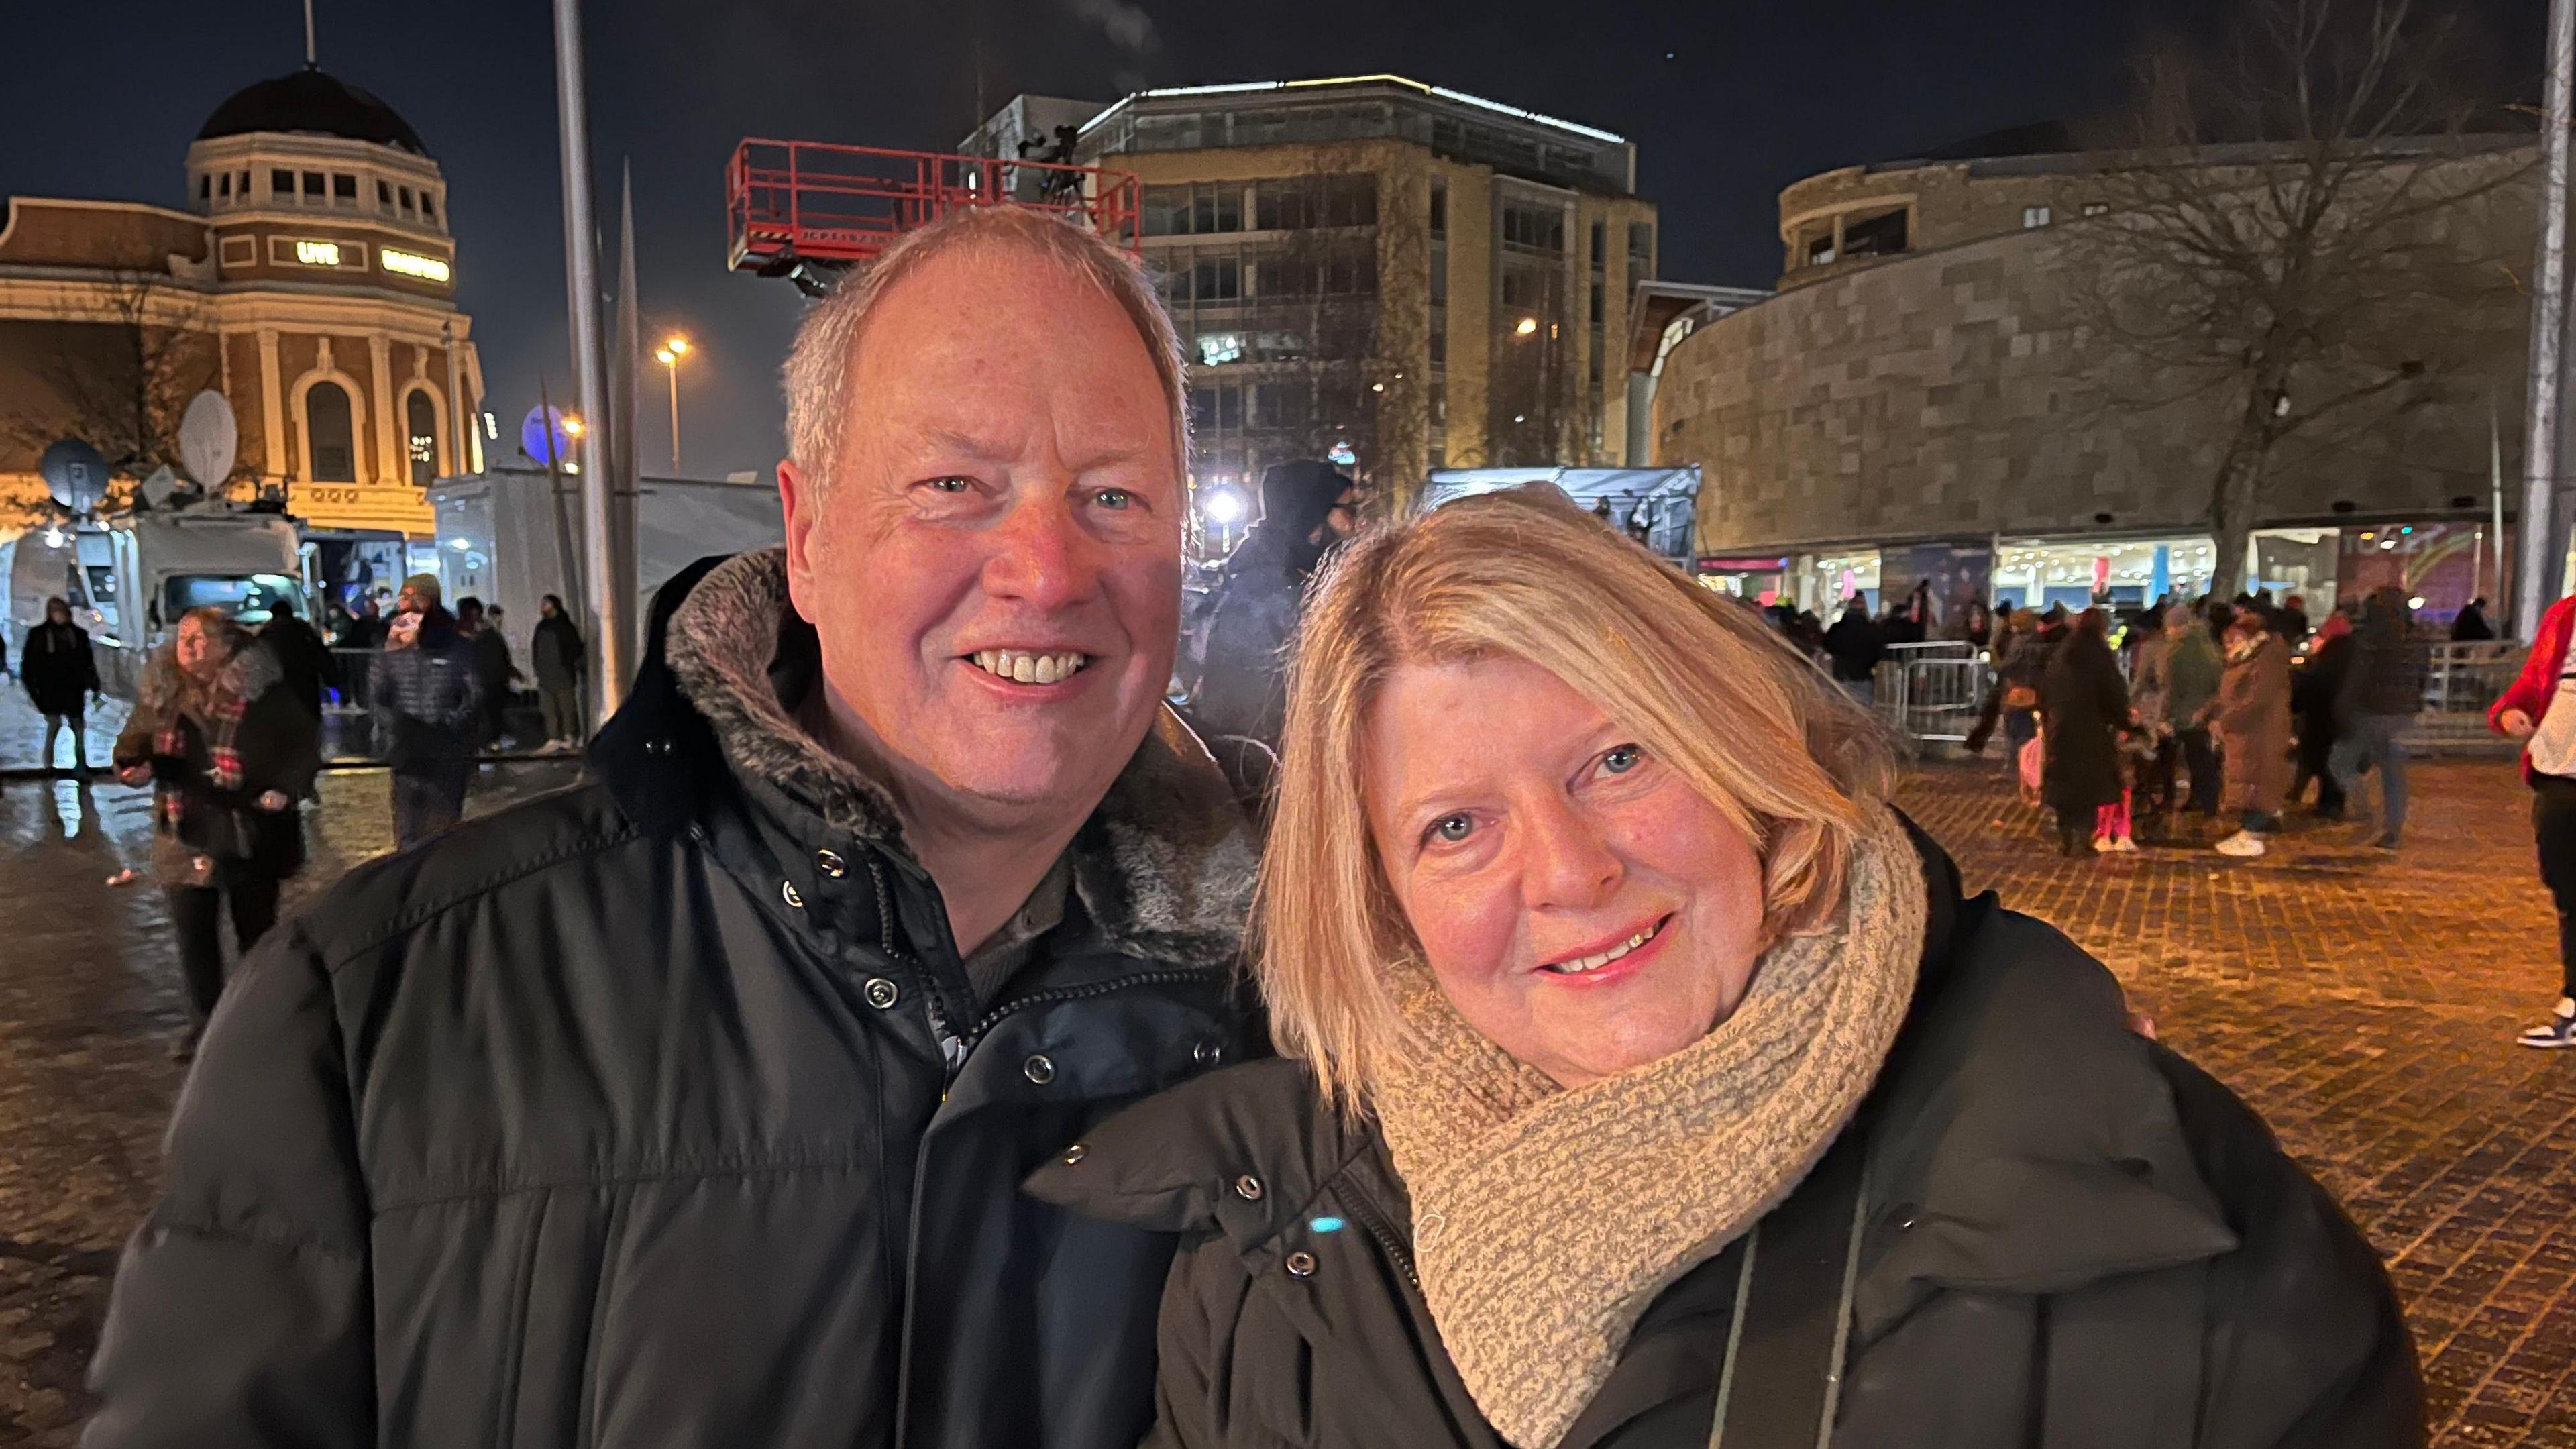
<instances>
[{"instance_id":1,"label":"tall grey metal pole rising behind the man, left of his head","mask_svg":"<svg viewBox=\"0 0 2576 1449\"><path fill-rule=\"evenodd\" d=\"M564 289L572 302L572 371L582 394L582 425L608 425L608 369L600 353L598 229L590 219L590 108L582 98L582 0L554 0L554 101L564 144ZM600 449L582 459L582 559L590 585L590 650L598 663L590 688L598 719L626 701L629 621L616 588L616 511L611 469Z\"/></svg>"}]
</instances>

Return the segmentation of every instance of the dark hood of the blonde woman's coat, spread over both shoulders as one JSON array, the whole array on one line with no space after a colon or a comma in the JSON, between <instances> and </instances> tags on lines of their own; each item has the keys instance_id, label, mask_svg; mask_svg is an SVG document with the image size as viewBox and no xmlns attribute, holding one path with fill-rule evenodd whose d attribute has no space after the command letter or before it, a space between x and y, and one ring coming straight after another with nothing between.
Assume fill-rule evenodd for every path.
<instances>
[{"instance_id":1,"label":"dark hood of the blonde woman's coat, spread over both shoulders","mask_svg":"<svg viewBox=\"0 0 2576 1449\"><path fill-rule=\"evenodd\" d=\"M1911 830L1911 822L1909 822ZM1927 913L1914 1008L1855 1129L1870 1132L1873 1227L1855 1328L1886 1333L1942 1289L2066 1292L2236 1248L2202 1181L2161 1047L2074 941L1963 900L1919 830ZM1041 1201L1278 1253L1314 1196L1383 1147L1327 1111L1303 1062L1249 1062L1149 1098L1028 1178ZM1255 1173L1270 1191L1242 1199ZM1401 1222L1409 1204L1388 1204Z\"/></svg>"}]
</instances>

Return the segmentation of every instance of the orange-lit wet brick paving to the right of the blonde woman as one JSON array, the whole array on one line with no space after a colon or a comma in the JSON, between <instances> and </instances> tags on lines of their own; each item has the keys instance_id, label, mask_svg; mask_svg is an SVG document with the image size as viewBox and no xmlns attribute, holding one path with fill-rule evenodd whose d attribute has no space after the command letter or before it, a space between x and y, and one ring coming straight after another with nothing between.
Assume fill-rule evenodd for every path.
<instances>
[{"instance_id":1,"label":"orange-lit wet brick paving to the right of the blonde woman","mask_svg":"<svg viewBox=\"0 0 2576 1449\"><path fill-rule=\"evenodd\" d=\"M1904 802L1968 890L2102 957L2344 1199L2406 1302L2437 1444L2576 1446L2576 1052L2509 1042L2558 985L2512 763L2419 763L2396 856L2293 817L2259 861L2208 851L2215 828L2063 859L1984 766L1919 768Z\"/></svg>"}]
</instances>

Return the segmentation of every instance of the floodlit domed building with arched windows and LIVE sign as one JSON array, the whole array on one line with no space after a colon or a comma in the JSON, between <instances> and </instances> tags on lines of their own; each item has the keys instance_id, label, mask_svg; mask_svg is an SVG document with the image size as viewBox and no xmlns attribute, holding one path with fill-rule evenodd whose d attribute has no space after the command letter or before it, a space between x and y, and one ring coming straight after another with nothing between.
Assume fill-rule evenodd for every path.
<instances>
[{"instance_id":1,"label":"floodlit domed building with arched windows and LIVE sign","mask_svg":"<svg viewBox=\"0 0 2576 1449\"><path fill-rule=\"evenodd\" d=\"M247 85L191 142L183 209L8 201L0 490L41 495L57 436L137 477L178 464L211 387L240 425L234 495L425 539L430 480L482 467L453 281L448 183L410 121L309 64Z\"/></svg>"}]
</instances>

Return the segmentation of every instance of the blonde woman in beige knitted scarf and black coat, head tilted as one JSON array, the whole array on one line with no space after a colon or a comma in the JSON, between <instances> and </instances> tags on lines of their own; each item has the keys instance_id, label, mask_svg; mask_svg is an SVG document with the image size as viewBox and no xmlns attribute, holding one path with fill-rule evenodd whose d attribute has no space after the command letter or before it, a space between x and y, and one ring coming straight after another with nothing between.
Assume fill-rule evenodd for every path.
<instances>
[{"instance_id":1,"label":"blonde woman in beige knitted scarf and black coat, head tilted","mask_svg":"<svg viewBox=\"0 0 2576 1449\"><path fill-rule=\"evenodd\" d=\"M2421 1444L2378 1258L2262 1122L1569 503L1360 539L1285 745L1291 1057L1030 1178L1182 1235L1149 1444Z\"/></svg>"}]
</instances>

